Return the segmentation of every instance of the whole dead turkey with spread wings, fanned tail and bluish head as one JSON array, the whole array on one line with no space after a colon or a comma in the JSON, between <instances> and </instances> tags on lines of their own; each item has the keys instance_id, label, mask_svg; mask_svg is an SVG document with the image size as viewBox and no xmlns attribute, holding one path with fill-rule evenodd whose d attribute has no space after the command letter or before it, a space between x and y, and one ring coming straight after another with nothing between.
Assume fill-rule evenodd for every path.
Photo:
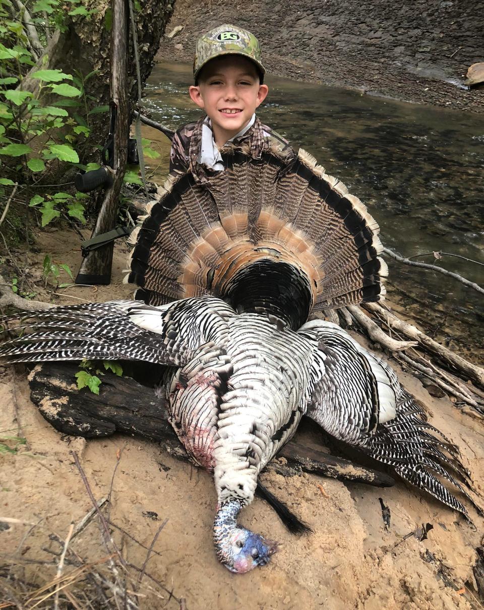
<instances>
[{"instance_id":1,"label":"whole dead turkey with spread wings, fanned tail and bluish head","mask_svg":"<svg viewBox=\"0 0 484 610\"><path fill-rule=\"evenodd\" d=\"M307 321L313 310L382 298L376 222L304 151L289 162L231 148L223 162L203 185L170 178L151 204L133 235L127 279L137 301L29 314L1 355L166 365L170 422L214 472L214 542L232 572L266 564L276 549L237 517L303 415L467 515L441 482L467 496L457 447L387 364L338 326Z\"/></svg>"}]
</instances>

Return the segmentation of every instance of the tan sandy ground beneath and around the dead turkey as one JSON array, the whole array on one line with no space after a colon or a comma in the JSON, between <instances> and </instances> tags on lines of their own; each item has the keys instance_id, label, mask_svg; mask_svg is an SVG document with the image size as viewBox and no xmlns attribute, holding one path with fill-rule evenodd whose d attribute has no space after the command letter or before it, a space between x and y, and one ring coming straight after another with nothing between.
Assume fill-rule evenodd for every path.
<instances>
[{"instance_id":1,"label":"tan sandy ground beneath and around the dead turkey","mask_svg":"<svg viewBox=\"0 0 484 610\"><path fill-rule=\"evenodd\" d=\"M30 255L30 265L38 268L49 251L54 260L76 270L80 253L72 250L72 243L77 243L77 237L69 231L39 233L38 253ZM62 292L96 301L129 297L132 287L122 284L126 253L125 245L116 246L110 286ZM41 293L40 298L48 296ZM400 378L424 403L432 423L459 445L475 488L482 494L482 422L461 414L447 398L430 397L415 378L405 373ZM64 539L69 523L79 522L91 508L69 452L79 454L94 497L99 499L110 489L117 451L123 449L114 478L111 520L149 547L167 519L147 571L169 589L173 587L176 597L184 597L189 610L482 608L473 597L477 590L473 566L484 523L472 509L475 529L401 482L378 489L309 475L285 479L268 472L262 475L264 483L312 526L314 534L294 537L287 533L268 505L256 499L242 513L242 523L278 540L282 547L264 569L234 576L217 562L212 547L216 494L211 475L177 461L153 442L122 436L88 441L61 436L30 402L22 367L0 371L0 404L0 432L16 434L18 423L28 443L16 454L0 454L0 525L2 517L29 523L43 520L23 542L22 548L28 547L24 559L43 556L45 532L55 531ZM310 426L301 435L315 442L322 439ZM388 529L379 498L391 512ZM423 523L433 525L426 540L414 535L404 539ZM5 583L2 555L15 553L29 529L25 524L0 527L0 601ZM146 548L117 529L113 536L125 558L142 565ZM75 545L77 552L93 561L106 554L95 523L77 537ZM36 582L51 580L55 571L55 565L27 565L27 576ZM163 603L147 597L140 607L161 608ZM172 599L166 607L179 605Z\"/></svg>"}]
</instances>

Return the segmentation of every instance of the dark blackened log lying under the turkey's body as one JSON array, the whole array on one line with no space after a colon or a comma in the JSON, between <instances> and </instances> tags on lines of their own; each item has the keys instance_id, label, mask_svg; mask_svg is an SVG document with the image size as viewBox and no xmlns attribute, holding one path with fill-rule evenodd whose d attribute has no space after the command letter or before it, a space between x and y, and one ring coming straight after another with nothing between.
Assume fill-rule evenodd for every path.
<instances>
[{"instance_id":1,"label":"dark blackened log lying under the turkey's body","mask_svg":"<svg viewBox=\"0 0 484 610\"><path fill-rule=\"evenodd\" d=\"M114 432L139 435L161 442L178 458L188 459L167 420L163 399L156 397L152 388L129 377L106 373L96 395L87 389L77 389L74 375L78 370L76 364L49 362L30 372L30 398L55 429L85 438L110 436ZM386 473L304 447L294 440L282 448L278 458L284 459L271 462L270 466L284 476L303 471L377 487L395 483Z\"/></svg>"}]
</instances>

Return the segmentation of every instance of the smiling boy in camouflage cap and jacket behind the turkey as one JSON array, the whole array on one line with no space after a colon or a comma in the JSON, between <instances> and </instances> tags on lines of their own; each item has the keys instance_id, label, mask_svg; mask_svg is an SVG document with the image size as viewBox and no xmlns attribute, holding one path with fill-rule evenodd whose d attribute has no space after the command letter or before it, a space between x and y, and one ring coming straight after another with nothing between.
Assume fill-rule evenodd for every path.
<instances>
[{"instance_id":1,"label":"smiling boy in camouflage cap and jacket behind the turkey","mask_svg":"<svg viewBox=\"0 0 484 610\"><path fill-rule=\"evenodd\" d=\"M254 159L270 146L293 158L289 143L256 117L268 93L264 74L259 41L247 30L224 24L198 38L189 93L206 117L174 135L171 174L189 170L203 184L209 173L223 171L220 150L228 142L248 143Z\"/></svg>"}]
</instances>

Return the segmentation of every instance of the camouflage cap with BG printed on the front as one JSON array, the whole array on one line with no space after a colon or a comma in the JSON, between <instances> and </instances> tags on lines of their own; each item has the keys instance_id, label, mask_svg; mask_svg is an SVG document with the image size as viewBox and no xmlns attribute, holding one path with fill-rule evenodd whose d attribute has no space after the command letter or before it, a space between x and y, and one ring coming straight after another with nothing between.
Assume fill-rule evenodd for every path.
<instances>
[{"instance_id":1,"label":"camouflage cap with BG printed on the front","mask_svg":"<svg viewBox=\"0 0 484 610\"><path fill-rule=\"evenodd\" d=\"M193 62L193 75L195 82L203 66L214 57L222 55L242 55L252 60L262 74L265 68L261 61L261 45L257 38L241 27L223 24L214 27L197 40L195 58Z\"/></svg>"}]
</instances>

